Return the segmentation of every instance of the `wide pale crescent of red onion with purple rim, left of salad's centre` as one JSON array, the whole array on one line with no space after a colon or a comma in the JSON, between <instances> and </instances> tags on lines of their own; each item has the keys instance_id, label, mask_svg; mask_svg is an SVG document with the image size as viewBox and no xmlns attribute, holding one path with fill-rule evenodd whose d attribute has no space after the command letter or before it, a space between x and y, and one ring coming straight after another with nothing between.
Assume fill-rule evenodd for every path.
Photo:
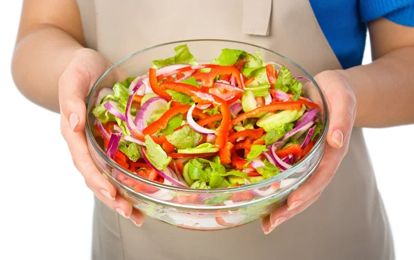
<instances>
[{"instance_id":1,"label":"wide pale crescent of red onion with purple rim, left of salad's centre","mask_svg":"<svg viewBox=\"0 0 414 260\"><path fill-rule=\"evenodd\" d=\"M146 123L150 121L152 113L157 110L166 109L167 106L168 101L162 97L152 97L148 99L137 112L135 126L142 132L142 130L147 127Z\"/></svg>"}]
</instances>

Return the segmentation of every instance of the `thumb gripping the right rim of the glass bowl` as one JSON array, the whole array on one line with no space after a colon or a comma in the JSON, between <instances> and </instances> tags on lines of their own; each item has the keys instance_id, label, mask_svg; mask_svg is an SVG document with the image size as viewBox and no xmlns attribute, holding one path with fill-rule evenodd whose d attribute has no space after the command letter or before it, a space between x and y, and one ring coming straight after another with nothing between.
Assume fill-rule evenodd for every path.
<instances>
[{"instance_id":1,"label":"thumb gripping the right rim of the glass bowl","mask_svg":"<svg viewBox=\"0 0 414 260\"><path fill-rule=\"evenodd\" d=\"M328 102L330 123L326 140L333 148L342 148L351 134L356 114L356 98L348 81L335 71L317 74L315 80L321 86Z\"/></svg>"}]
</instances>

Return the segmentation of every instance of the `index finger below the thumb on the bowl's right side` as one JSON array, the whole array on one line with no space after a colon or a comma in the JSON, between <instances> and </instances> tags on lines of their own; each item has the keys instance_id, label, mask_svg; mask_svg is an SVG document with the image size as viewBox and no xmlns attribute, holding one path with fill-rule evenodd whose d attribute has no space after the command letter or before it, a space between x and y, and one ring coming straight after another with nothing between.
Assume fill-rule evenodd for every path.
<instances>
[{"instance_id":1,"label":"index finger below the thumb on the bowl's right side","mask_svg":"<svg viewBox=\"0 0 414 260\"><path fill-rule=\"evenodd\" d=\"M345 140L345 146L348 146L349 139ZM311 199L315 194L323 190L331 183L339 164L346 154L346 149L336 149L327 147L324 157L319 163L317 170L305 183L289 194L287 205L289 210L297 208L302 203Z\"/></svg>"}]
</instances>

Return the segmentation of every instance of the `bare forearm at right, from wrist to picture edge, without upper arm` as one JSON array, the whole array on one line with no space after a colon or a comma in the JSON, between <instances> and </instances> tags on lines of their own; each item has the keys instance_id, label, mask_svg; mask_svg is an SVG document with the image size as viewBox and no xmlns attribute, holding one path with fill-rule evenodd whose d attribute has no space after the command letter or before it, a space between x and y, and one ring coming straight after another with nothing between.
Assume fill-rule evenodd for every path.
<instances>
[{"instance_id":1,"label":"bare forearm at right, from wrist to picture edge, without upper arm","mask_svg":"<svg viewBox=\"0 0 414 260\"><path fill-rule=\"evenodd\" d=\"M414 47L393 50L373 63L345 70L344 75L357 98L355 126L414 123Z\"/></svg>"}]
</instances>

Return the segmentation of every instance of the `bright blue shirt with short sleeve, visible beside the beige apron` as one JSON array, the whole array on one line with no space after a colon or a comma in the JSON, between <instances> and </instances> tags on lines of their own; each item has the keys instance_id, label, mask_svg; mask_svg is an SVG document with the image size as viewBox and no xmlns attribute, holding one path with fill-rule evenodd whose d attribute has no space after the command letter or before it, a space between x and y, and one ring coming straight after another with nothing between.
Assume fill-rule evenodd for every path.
<instances>
[{"instance_id":1,"label":"bright blue shirt with short sleeve, visible beside the beige apron","mask_svg":"<svg viewBox=\"0 0 414 260\"><path fill-rule=\"evenodd\" d=\"M309 0L319 26L343 68L362 63L366 23L384 17L414 26L414 0Z\"/></svg>"}]
</instances>

